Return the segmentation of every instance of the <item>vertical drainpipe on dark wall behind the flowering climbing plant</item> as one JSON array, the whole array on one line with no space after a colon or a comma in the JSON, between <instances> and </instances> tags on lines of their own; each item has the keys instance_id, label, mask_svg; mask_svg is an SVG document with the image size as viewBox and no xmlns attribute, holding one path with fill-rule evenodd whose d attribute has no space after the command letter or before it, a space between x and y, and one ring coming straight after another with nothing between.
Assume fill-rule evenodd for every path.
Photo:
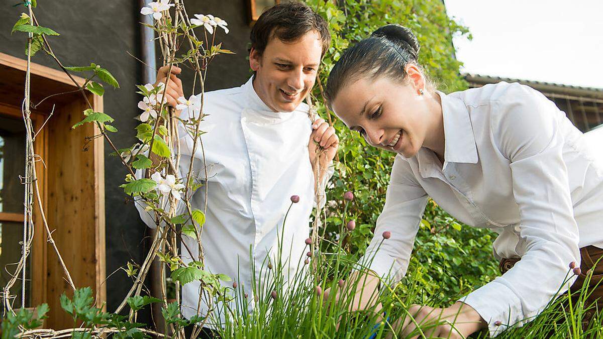
<instances>
[{"instance_id":1,"label":"vertical drainpipe on dark wall behind the flowering climbing plant","mask_svg":"<svg viewBox=\"0 0 603 339\"><path fill-rule=\"evenodd\" d=\"M139 8L145 7L151 3L151 0L139 0ZM140 22L153 25L153 17L150 15L140 14ZM155 63L155 31L144 25L140 25L140 60L146 65L142 66L142 83L155 83L157 79L157 66ZM151 229L151 239L154 238L157 228ZM161 279L163 279L161 271L161 263L158 258L153 260L151 264L150 280L151 280L151 296L161 296ZM159 333L165 333L165 320L161 314L161 303L153 303L151 305L151 319Z\"/></svg>"}]
</instances>

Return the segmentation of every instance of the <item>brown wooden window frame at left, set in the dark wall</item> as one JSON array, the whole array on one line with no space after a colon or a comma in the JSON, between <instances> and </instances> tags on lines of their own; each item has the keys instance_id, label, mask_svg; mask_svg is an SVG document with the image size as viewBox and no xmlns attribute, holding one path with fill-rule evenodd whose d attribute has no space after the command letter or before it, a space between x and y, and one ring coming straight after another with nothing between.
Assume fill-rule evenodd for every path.
<instances>
[{"instance_id":1,"label":"brown wooden window frame at left, set in the dark wall","mask_svg":"<svg viewBox=\"0 0 603 339\"><path fill-rule=\"evenodd\" d=\"M21 103L27 62L0 52L0 112L22 119ZM77 86L63 71L31 63L31 102L34 128L44 128L34 142L34 151L43 161L36 162L42 208L52 237L76 287L92 287L96 306L105 308L105 207L104 139L94 124L71 127L81 121L87 102L95 112L103 112L103 98L76 91ZM82 86L84 79L73 76ZM69 92L69 93L67 93ZM49 95L63 93L48 100ZM52 116L46 121L49 113ZM74 180L75 179L75 180ZM45 326L71 328L73 319L61 308L59 297L72 296L65 273L34 200L34 242L31 252L31 305L48 303ZM17 214L4 215L17 219ZM22 221L22 218L21 218ZM38 267L42 267L39 269Z\"/></svg>"}]
</instances>

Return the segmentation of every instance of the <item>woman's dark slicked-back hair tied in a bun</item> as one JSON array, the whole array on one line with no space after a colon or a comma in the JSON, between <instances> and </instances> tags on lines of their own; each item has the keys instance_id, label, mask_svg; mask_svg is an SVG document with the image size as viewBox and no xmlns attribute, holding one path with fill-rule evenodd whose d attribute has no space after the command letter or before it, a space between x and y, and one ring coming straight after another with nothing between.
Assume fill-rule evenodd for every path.
<instances>
[{"instance_id":1,"label":"woman's dark slicked-back hair tied in a bun","mask_svg":"<svg viewBox=\"0 0 603 339\"><path fill-rule=\"evenodd\" d=\"M346 49L333 66L327 81L326 97L329 102L343 86L361 77L389 77L404 81L405 66L418 65L420 45L411 30L401 25L385 25ZM420 67L420 66L419 66Z\"/></svg>"}]
</instances>

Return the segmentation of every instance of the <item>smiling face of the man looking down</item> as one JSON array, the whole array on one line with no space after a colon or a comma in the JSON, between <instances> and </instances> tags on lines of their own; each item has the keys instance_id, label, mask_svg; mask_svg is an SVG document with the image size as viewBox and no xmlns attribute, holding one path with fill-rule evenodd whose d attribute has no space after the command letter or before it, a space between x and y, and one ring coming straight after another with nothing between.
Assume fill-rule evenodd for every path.
<instances>
[{"instance_id":1,"label":"smiling face of the man looking down","mask_svg":"<svg viewBox=\"0 0 603 339\"><path fill-rule=\"evenodd\" d=\"M292 112L314 86L322 53L320 35L309 31L294 42L272 37L260 55L251 49L253 88L274 112Z\"/></svg>"}]
</instances>

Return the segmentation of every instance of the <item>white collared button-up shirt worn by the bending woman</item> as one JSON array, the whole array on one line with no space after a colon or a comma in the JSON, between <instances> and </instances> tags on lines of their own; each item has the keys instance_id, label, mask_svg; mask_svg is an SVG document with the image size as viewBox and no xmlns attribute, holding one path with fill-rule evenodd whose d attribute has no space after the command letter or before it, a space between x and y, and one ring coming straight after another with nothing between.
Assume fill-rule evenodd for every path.
<instances>
[{"instance_id":1,"label":"white collared button-up shirt worn by the bending woman","mask_svg":"<svg viewBox=\"0 0 603 339\"><path fill-rule=\"evenodd\" d=\"M501 82L438 94L444 163L426 148L408 159L396 157L361 261L374 255L372 270L400 280L428 195L459 221L493 230L499 234L494 256L522 260L461 301L494 336L545 307L568 264L579 263L579 247L603 247L603 166L566 115L528 86ZM379 247L386 230L391 238ZM497 320L504 325L496 326Z\"/></svg>"}]
</instances>

